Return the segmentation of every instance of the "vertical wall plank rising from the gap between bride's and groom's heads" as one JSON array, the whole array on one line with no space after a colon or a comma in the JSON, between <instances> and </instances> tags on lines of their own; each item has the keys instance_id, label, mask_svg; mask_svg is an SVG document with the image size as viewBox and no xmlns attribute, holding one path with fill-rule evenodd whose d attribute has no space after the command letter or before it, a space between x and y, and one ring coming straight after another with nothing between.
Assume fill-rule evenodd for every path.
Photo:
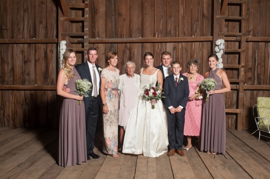
<instances>
[{"instance_id":1,"label":"vertical wall plank rising from the gap between bride's and groom's heads","mask_svg":"<svg viewBox=\"0 0 270 179\"><path fill-rule=\"evenodd\" d=\"M166 37L166 6L165 0L155 0L155 37ZM153 53L155 55L154 66L162 64L161 54L165 50L166 43L155 43Z\"/></svg>"}]
</instances>

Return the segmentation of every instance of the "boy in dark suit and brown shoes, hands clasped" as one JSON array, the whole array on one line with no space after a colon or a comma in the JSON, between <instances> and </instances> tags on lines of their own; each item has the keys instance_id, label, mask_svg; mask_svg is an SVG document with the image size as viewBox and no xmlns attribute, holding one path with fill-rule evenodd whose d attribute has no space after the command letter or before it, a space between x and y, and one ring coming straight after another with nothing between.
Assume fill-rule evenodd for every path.
<instances>
[{"instance_id":1,"label":"boy in dark suit and brown shoes, hands clasped","mask_svg":"<svg viewBox=\"0 0 270 179\"><path fill-rule=\"evenodd\" d=\"M189 99L188 78L180 74L182 70L178 61L172 62L171 71L173 74L165 78L164 82L164 103L168 118L168 140L169 156L177 152L184 156L183 138L185 125L185 111Z\"/></svg>"}]
</instances>

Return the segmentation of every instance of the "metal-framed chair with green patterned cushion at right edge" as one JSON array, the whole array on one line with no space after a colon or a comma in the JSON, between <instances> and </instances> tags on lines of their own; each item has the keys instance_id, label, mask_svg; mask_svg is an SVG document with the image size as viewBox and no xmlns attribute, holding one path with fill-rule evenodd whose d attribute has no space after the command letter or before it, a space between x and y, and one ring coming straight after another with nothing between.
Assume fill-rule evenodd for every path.
<instances>
[{"instance_id":1,"label":"metal-framed chair with green patterned cushion at right edge","mask_svg":"<svg viewBox=\"0 0 270 179\"><path fill-rule=\"evenodd\" d=\"M255 109L257 109L257 114L258 114L257 117L254 115ZM260 140L260 136L262 135L261 132L270 133L270 98L269 97L257 97L257 104L253 106L253 116L255 117L256 126L258 128L257 130L259 130L258 140ZM266 135L262 135L262 136L270 138L269 136L266 136Z\"/></svg>"}]
</instances>

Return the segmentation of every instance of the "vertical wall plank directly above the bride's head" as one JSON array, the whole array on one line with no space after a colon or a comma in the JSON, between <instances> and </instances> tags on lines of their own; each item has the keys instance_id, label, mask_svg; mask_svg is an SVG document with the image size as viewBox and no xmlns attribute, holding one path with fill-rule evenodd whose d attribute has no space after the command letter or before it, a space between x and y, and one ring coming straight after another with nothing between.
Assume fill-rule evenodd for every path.
<instances>
[{"instance_id":1,"label":"vertical wall plank directly above the bride's head","mask_svg":"<svg viewBox=\"0 0 270 179\"><path fill-rule=\"evenodd\" d=\"M155 8L155 0L142 0L142 35L143 37L154 37L154 8ZM154 45L152 43L144 43L142 44L142 54L150 51L154 52ZM155 60L156 56L154 56ZM157 57L158 58L158 57Z\"/></svg>"}]
</instances>

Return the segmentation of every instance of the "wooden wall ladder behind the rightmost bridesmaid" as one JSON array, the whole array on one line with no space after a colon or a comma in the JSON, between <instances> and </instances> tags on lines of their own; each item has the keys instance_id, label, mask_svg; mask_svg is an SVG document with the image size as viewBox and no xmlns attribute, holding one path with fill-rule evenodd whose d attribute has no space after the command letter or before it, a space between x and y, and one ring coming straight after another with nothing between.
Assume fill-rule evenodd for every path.
<instances>
[{"instance_id":1,"label":"wooden wall ladder behind the rightmost bridesmaid","mask_svg":"<svg viewBox=\"0 0 270 179\"><path fill-rule=\"evenodd\" d=\"M214 35L213 40L214 44L217 39L224 39L225 42L239 42L238 48L234 49L224 49L224 53L238 53L239 59L236 59L238 62L237 65L224 65L225 69L238 69L238 78L229 79L230 83L235 83L235 89L238 90L237 95L237 109L226 109L226 113L237 113L237 130L242 129L243 121L243 85L244 85L244 66L245 66L245 39L246 39L246 3L247 0L223 0L222 5L214 0L214 13L216 14L216 21L214 21ZM221 5L221 8L220 8ZM239 6L240 16L225 16L225 13L230 5ZM221 11L219 10L221 9ZM225 32L225 20L228 22L239 22L239 32ZM217 28L216 28L217 27ZM216 28L216 29L215 29ZM229 28L228 28L229 29ZM224 44L225 46L225 44ZM223 56L223 55L222 55ZM224 58L223 58L224 59ZM231 85L233 86L233 85Z\"/></svg>"}]
</instances>

